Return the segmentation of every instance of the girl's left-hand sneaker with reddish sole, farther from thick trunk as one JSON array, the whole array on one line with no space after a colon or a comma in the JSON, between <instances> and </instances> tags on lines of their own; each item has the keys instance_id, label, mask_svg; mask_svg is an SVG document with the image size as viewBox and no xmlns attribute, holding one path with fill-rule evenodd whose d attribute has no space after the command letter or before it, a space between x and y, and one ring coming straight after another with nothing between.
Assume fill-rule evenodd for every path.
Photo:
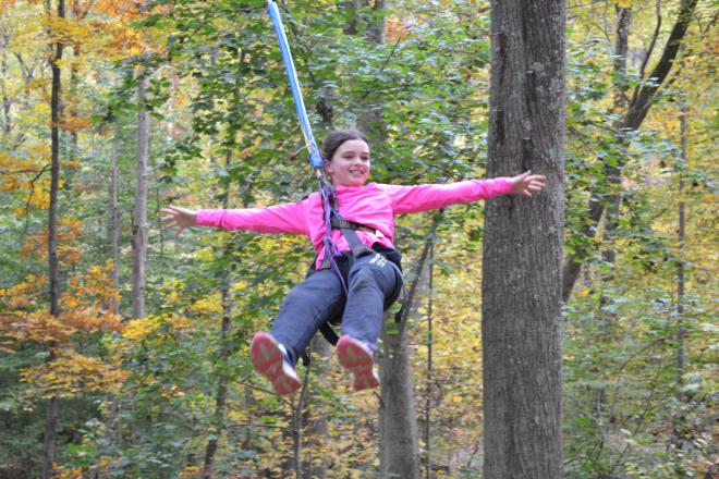
<instances>
[{"instance_id":1,"label":"girl's left-hand sneaker with reddish sole, farther from thick trunk","mask_svg":"<svg viewBox=\"0 0 719 479\"><path fill-rule=\"evenodd\" d=\"M271 334L265 331L255 334L249 346L249 357L255 370L270 380L276 393L292 394L302 388L300 377L287 358L284 346Z\"/></svg>"}]
</instances>

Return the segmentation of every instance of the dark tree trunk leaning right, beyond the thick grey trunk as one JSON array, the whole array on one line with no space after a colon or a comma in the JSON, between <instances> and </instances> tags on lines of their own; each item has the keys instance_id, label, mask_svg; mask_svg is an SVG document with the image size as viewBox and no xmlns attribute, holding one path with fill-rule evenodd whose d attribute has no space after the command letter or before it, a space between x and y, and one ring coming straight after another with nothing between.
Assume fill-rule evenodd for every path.
<instances>
[{"instance_id":1,"label":"dark tree trunk leaning right, beyond the thick grey trunk","mask_svg":"<svg viewBox=\"0 0 719 479\"><path fill-rule=\"evenodd\" d=\"M659 88L663 85L671 73L671 69L686 35L696 3L697 0L681 1L677 21L674 22L669 38L667 39L661 58L651 73L647 75L646 78L643 78L646 83L634 89L626 111L624 112L621 122L616 126L619 131L629 134L637 131L642 126L644 119L649 112L649 108L651 108L651 105L654 105L656 100ZM610 191L619 186L623 167L624 163L620 160L617 165L619 174L612 175L612 177L607 177L607 187ZM602 217L606 205L607 198L604 193L595 192L592 194L587 206L585 228L580 232L580 235L585 238L593 238L595 236L597 225ZM582 263L589 254L589 249L584 248L574 254L568 255L564 258L562 267L562 298L564 302L568 302L571 297L572 288L574 287L574 283L576 283L576 279L580 277L582 270Z\"/></svg>"}]
</instances>

